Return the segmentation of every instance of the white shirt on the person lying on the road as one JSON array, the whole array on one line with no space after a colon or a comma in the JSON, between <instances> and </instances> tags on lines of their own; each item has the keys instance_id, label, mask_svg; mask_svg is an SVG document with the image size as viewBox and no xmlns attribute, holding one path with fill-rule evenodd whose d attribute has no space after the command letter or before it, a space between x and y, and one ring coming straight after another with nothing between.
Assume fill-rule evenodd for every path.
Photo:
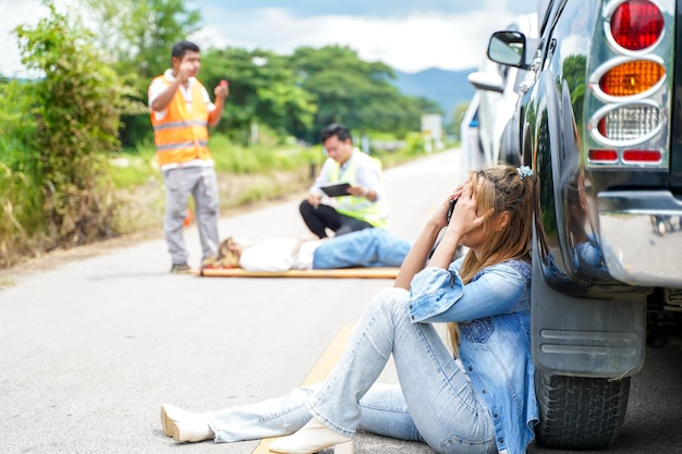
<instances>
[{"instance_id":1,"label":"white shirt on the person lying on the road","mask_svg":"<svg viewBox=\"0 0 682 454\"><path fill-rule=\"evenodd\" d=\"M322 240L266 238L242 251L240 267L246 271L266 272L309 270L315 249L321 243Z\"/></svg>"}]
</instances>

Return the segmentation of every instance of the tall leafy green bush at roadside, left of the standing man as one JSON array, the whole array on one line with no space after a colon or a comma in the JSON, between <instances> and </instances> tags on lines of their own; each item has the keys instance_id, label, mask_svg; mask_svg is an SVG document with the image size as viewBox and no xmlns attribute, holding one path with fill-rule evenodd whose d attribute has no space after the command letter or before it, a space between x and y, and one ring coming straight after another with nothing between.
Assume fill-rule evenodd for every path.
<instances>
[{"instance_id":1,"label":"tall leafy green bush at roadside, left of the standing man","mask_svg":"<svg viewBox=\"0 0 682 454\"><path fill-rule=\"evenodd\" d=\"M87 30L46 1L49 16L20 25L22 63L45 77L34 85L35 140L48 236L85 243L110 234L113 205L107 152L119 148L130 91L92 46Z\"/></svg>"}]
</instances>

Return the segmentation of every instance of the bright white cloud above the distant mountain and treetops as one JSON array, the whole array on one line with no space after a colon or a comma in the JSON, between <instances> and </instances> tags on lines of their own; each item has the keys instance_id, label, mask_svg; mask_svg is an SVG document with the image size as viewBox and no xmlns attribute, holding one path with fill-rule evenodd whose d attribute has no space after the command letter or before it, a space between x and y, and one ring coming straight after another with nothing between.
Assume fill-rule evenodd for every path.
<instances>
[{"instance_id":1,"label":"bright white cloud above the distant mountain and treetops","mask_svg":"<svg viewBox=\"0 0 682 454\"><path fill-rule=\"evenodd\" d=\"M211 17L216 17L212 16ZM194 37L204 47L261 48L289 54L296 47L345 45L363 60L382 61L406 72L427 68L462 70L477 66L488 37L511 22L511 14L474 11L458 15L405 19L357 16L295 17L284 10L258 10L229 21L207 21ZM229 26L227 25L229 23Z\"/></svg>"}]
</instances>

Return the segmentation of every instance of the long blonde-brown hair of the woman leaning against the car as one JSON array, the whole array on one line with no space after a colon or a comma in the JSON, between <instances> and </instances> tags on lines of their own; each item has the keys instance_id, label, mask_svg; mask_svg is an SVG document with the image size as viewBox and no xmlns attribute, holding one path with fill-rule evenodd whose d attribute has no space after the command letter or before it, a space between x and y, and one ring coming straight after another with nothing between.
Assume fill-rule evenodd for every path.
<instances>
[{"instance_id":1,"label":"long blonde-brown hair of the woman leaning against the car","mask_svg":"<svg viewBox=\"0 0 682 454\"><path fill-rule=\"evenodd\" d=\"M508 164L494 165L470 172L470 181L478 211L492 209L492 212L483 224L487 240L479 254L470 250L462 262L460 277L464 284L491 265L512 259L531 260L533 240L535 177L529 169ZM504 212L509 216L507 225L496 230L494 222ZM452 348L459 354L458 323L448 323L448 333Z\"/></svg>"}]
</instances>

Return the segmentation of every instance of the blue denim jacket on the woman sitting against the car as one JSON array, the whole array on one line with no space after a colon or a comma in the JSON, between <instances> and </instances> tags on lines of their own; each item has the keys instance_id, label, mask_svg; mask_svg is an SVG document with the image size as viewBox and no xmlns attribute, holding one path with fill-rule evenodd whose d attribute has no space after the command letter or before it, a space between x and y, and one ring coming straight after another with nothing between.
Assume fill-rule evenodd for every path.
<instances>
[{"instance_id":1,"label":"blue denim jacket on the woman sitting against the car","mask_svg":"<svg viewBox=\"0 0 682 454\"><path fill-rule=\"evenodd\" d=\"M479 271L466 285L459 269L428 267L410 289L416 322L460 326L460 359L492 421L500 453L525 453L538 422L531 357L531 265L510 260Z\"/></svg>"}]
</instances>

